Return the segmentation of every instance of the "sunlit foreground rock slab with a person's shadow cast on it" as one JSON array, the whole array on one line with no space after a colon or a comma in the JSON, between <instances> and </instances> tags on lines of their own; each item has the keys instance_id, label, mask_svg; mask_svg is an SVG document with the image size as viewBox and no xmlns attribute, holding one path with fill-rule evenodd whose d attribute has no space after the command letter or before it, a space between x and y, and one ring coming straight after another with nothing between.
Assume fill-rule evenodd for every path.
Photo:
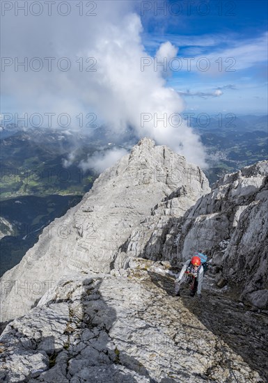
<instances>
[{"instance_id":1,"label":"sunlit foreground rock slab with a person's shadow cast on it","mask_svg":"<svg viewBox=\"0 0 268 383\"><path fill-rule=\"evenodd\" d=\"M129 266L61 279L10 323L1 382L265 382L171 297L173 283L157 277L161 265Z\"/></svg>"}]
</instances>

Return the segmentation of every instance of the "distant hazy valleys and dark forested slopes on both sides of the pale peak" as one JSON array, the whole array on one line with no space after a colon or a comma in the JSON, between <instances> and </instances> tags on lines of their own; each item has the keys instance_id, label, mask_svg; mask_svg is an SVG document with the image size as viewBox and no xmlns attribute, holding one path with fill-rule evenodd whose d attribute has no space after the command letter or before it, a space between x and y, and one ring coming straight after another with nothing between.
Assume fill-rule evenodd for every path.
<instances>
[{"instance_id":1,"label":"distant hazy valleys and dark forested slopes on both sides of the pale peak","mask_svg":"<svg viewBox=\"0 0 268 383\"><path fill-rule=\"evenodd\" d=\"M219 116L214 116L207 127L202 124L204 120L191 118L191 125L207 151L209 169L204 172L210 185L226 173L268 158L267 116L239 116L232 121L230 118L220 121ZM130 150L138 141L132 127L115 133L102 125L86 134L81 130L1 126L3 271L15 265L33 246L42 226L60 217L70 204L78 203L92 187L98 174L93 169L82 171L79 166L82 160L99 150L122 147ZM24 206L28 214L22 212ZM24 226L27 230L35 228L34 233L22 235Z\"/></svg>"}]
</instances>

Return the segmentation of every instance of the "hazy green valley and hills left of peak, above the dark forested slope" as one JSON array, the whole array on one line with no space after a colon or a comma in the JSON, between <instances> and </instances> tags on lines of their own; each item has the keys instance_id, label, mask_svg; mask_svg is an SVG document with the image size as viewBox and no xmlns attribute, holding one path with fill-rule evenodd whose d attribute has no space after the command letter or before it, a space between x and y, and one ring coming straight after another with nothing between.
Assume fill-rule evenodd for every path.
<instances>
[{"instance_id":1,"label":"hazy green valley and hills left of peak, above the dark forested slope","mask_svg":"<svg viewBox=\"0 0 268 383\"><path fill-rule=\"evenodd\" d=\"M93 169L82 172L79 162L97 149L97 143L81 132L16 127L2 130L1 198L84 194L95 174Z\"/></svg>"}]
</instances>

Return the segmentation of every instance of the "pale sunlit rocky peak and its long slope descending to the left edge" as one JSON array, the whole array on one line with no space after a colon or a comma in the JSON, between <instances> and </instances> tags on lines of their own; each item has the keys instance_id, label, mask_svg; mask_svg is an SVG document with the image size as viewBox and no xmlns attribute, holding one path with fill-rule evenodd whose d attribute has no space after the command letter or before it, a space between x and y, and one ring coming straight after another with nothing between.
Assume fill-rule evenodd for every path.
<instances>
[{"instance_id":1,"label":"pale sunlit rocky peak and its long slope descending to the left edge","mask_svg":"<svg viewBox=\"0 0 268 383\"><path fill-rule=\"evenodd\" d=\"M49 224L19 265L3 275L1 322L26 314L64 275L127 267L131 256L122 251L124 244L159 201L166 198L155 208L155 217L161 219L157 212L166 211L166 221L175 211L184 214L209 191L198 166L142 139L100 175L79 205ZM177 202L171 204L174 193Z\"/></svg>"}]
</instances>

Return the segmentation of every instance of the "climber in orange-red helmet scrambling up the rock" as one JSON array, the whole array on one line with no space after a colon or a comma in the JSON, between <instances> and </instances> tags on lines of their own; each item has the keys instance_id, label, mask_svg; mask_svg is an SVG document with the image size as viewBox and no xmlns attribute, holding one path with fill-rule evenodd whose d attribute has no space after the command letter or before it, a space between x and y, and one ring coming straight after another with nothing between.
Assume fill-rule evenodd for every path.
<instances>
[{"instance_id":1,"label":"climber in orange-red helmet scrambling up the rock","mask_svg":"<svg viewBox=\"0 0 268 383\"><path fill-rule=\"evenodd\" d=\"M191 297L194 297L197 291L198 298L201 298L202 282L204 277L204 269L198 256L193 256L187 260L175 281L175 295L180 297L180 285L183 282L191 283Z\"/></svg>"}]
</instances>

